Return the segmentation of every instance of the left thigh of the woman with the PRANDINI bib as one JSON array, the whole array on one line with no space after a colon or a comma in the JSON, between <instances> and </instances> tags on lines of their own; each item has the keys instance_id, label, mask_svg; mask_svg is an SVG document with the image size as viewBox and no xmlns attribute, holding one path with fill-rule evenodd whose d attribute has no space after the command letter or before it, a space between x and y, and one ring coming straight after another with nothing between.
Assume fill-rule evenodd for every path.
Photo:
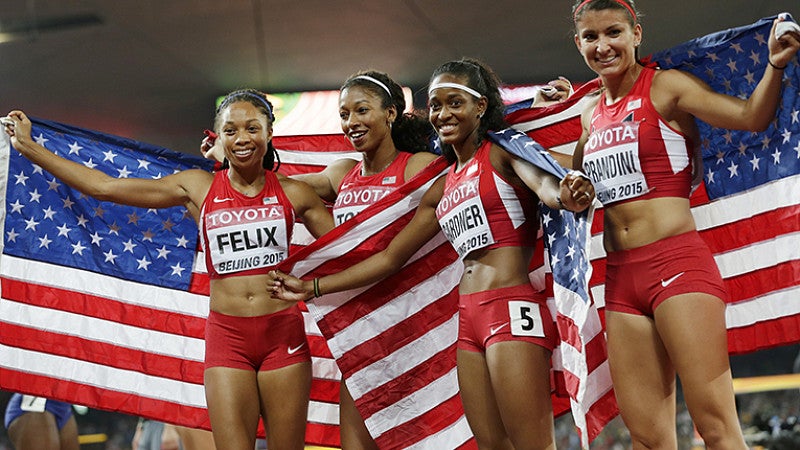
<instances>
[{"instance_id":1,"label":"left thigh of the woman with the PRANDINI bib","mask_svg":"<svg viewBox=\"0 0 800 450\"><path fill-rule=\"evenodd\" d=\"M606 328L614 393L631 437L674 448L675 370L654 321L606 311Z\"/></svg>"}]
</instances>

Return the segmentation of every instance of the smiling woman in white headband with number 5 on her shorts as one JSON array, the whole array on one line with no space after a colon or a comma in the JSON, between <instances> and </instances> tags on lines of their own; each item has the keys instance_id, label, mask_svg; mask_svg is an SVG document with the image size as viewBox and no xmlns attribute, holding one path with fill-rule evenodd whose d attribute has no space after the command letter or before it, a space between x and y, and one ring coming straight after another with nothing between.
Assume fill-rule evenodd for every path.
<instances>
[{"instance_id":1,"label":"smiling woman in white headband with number 5 on her shorts","mask_svg":"<svg viewBox=\"0 0 800 450\"><path fill-rule=\"evenodd\" d=\"M428 189L385 250L318 279L276 272L273 289L296 301L381 281L444 230L463 260L457 373L478 446L553 449L549 374L555 324L528 278L537 208L541 201L582 211L593 188L585 177L559 180L488 139L488 130L505 126L498 86L478 61L440 66L431 77L428 118L451 163L446 177Z\"/></svg>"}]
</instances>

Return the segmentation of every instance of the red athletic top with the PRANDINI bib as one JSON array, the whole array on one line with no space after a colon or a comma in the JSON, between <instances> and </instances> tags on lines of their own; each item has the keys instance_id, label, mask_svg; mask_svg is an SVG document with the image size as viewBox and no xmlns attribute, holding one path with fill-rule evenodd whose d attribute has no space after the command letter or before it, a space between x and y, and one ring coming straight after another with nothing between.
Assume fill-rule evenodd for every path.
<instances>
[{"instance_id":1,"label":"red athletic top with the PRANDINI bib","mask_svg":"<svg viewBox=\"0 0 800 450\"><path fill-rule=\"evenodd\" d=\"M650 101L656 70L643 68L624 98L592 114L583 171L603 204L658 197L689 198L691 139L670 127Z\"/></svg>"}]
</instances>

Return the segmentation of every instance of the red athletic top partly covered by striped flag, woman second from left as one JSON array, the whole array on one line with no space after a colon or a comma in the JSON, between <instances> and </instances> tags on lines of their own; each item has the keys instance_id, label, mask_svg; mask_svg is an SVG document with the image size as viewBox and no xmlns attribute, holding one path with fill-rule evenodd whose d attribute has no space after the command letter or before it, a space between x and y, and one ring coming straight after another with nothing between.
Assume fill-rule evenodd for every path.
<instances>
[{"instance_id":1,"label":"red athletic top partly covered by striped flag, woman second from left","mask_svg":"<svg viewBox=\"0 0 800 450\"><path fill-rule=\"evenodd\" d=\"M363 161L350 169L339 185L339 194L333 205L336 225L341 225L405 183L406 165L411 156L411 153L399 152L389 167L375 175L361 175Z\"/></svg>"}]
</instances>

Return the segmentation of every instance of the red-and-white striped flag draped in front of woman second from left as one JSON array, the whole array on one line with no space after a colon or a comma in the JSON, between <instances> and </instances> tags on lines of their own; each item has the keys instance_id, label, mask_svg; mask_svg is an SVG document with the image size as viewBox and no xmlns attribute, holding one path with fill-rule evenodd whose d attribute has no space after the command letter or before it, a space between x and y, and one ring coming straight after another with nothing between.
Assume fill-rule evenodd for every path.
<instances>
[{"instance_id":1,"label":"red-and-white striped flag draped in front of woman second from left","mask_svg":"<svg viewBox=\"0 0 800 450\"><path fill-rule=\"evenodd\" d=\"M379 252L411 220L424 192L446 168L445 160L437 159L279 268L319 277ZM462 270L438 233L395 275L308 303L382 449L474 446L455 370Z\"/></svg>"}]
</instances>

